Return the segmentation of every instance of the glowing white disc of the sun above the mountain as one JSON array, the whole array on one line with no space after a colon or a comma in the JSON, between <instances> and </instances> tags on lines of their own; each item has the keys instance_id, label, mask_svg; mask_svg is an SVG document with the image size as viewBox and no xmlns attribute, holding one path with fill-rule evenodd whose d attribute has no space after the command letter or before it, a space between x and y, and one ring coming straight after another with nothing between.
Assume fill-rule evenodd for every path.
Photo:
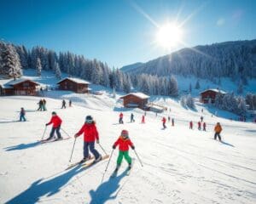
<instances>
[{"instance_id":1,"label":"glowing white disc of the sun above the mountain","mask_svg":"<svg viewBox=\"0 0 256 204\"><path fill-rule=\"evenodd\" d=\"M164 48L172 48L182 40L182 31L175 24L161 26L157 33L157 42Z\"/></svg>"}]
</instances>

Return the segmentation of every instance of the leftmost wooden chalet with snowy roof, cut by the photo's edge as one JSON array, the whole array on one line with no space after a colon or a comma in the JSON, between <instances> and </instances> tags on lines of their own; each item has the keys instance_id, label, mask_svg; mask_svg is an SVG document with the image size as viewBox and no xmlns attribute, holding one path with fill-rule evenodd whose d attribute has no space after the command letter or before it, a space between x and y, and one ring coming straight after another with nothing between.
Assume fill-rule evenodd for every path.
<instances>
[{"instance_id":1,"label":"leftmost wooden chalet with snowy roof, cut by the photo's edge","mask_svg":"<svg viewBox=\"0 0 256 204\"><path fill-rule=\"evenodd\" d=\"M0 95L37 95L37 82L30 79L0 80Z\"/></svg>"}]
</instances>

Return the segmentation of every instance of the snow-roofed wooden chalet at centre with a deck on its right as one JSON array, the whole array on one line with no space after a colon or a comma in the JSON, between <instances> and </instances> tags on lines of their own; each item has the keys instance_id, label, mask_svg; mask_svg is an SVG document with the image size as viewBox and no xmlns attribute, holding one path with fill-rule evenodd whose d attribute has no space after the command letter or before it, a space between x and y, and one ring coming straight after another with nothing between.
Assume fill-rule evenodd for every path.
<instances>
[{"instance_id":1,"label":"snow-roofed wooden chalet at centre with a deck on its right","mask_svg":"<svg viewBox=\"0 0 256 204\"><path fill-rule=\"evenodd\" d=\"M147 109L149 96L143 93L131 93L120 97L123 99L123 105L126 108L140 108L143 110Z\"/></svg>"}]
</instances>

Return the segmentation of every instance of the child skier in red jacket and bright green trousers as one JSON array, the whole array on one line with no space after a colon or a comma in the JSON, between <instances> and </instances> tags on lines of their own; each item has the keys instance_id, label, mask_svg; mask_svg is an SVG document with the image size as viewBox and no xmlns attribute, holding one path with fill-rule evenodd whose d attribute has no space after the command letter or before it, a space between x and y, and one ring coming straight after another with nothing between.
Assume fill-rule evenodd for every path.
<instances>
[{"instance_id":1,"label":"child skier in red jacket and bright green trousers","mask_svg":"<svg viewBox=\"0 0 256 204\"><path fill-rule=\"evenodd\" d=\"M135 147L131 142L131 139L129 139L129 133L127 130L122 130L121 136L119 139L115 141L113 144L113 150L119 145L119 156L117 159L117 166L114 170L114 173L117 173L119 170L119 167L122 163L123 157L125 156L125 160L128 163L128 170L131 169L131 156L129 156L129 146L131 146L131 149L134 150Z\"/></svg>"}]
</instances>

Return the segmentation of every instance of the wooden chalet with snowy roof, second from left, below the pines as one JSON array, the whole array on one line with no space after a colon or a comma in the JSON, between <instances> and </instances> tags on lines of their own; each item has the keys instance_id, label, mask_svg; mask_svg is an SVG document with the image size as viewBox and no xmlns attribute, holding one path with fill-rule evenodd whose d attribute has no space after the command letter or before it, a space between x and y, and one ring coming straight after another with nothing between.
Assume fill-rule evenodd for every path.
<instances>
[{"instance_id":1,"label":"wooden chalet with snowy roof, second from left, below the pines","mask_svg":"<svg viewBox=\"0 0 256 204\"><path fill-rule=\"evenodd\" d=\"M90 92L89 84L82 79L67 77L57 82L60 90L73 91L79 94L85 94Z\"/></svg>"}]
</instances>

